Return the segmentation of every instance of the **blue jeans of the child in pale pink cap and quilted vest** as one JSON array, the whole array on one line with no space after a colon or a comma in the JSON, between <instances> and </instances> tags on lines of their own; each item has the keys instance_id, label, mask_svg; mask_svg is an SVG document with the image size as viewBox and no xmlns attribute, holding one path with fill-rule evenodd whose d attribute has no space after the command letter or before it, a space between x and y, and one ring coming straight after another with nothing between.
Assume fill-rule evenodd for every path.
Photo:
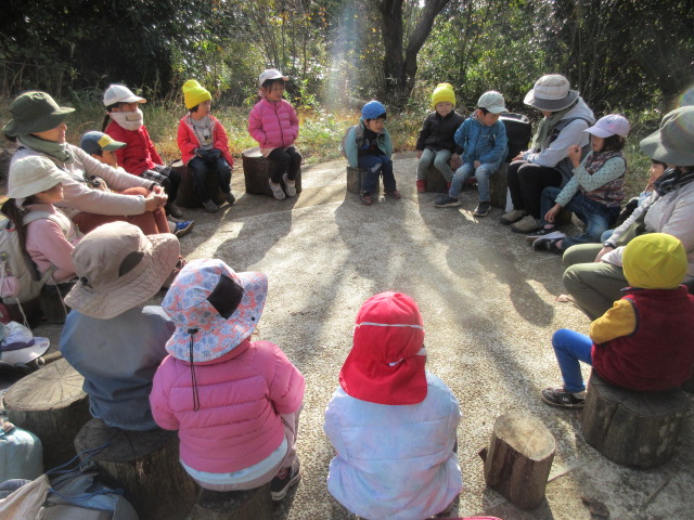
<instances>
[{"instance_id":1,"label":"blue jeans of the child in pale pink cap and quilted vest","mask_svg":"<svg viewBox=\"0 0 694 520\"><path fill-rule=\"evenodd\" d=\"M554 200L562 188L548 186L542 190L542 197L540 198L540 219L543 224L548 222L544 220L547 212L554 206ZM586 227L583 233L578 236L567 236L562 240L562 249L568 249L570 246L577 244L588 244L591 242L599 242L600 235L602 235L609 226L615 222L619 214L619 208L608 208L604 204L596 203L590 198L583 196L581 193L577 193L566 205L566 209L576 213Z\"/></svg>"}]
</instances>

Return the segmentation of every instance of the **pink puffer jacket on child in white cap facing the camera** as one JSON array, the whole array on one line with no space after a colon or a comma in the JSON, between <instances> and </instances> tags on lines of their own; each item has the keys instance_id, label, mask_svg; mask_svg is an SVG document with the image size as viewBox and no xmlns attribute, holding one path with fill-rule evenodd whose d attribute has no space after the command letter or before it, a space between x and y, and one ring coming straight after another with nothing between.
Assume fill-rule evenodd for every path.
<instances>
[{"instance_id":1,"label":"pink puffer jacket on child in white cap facing the camera","mask_svg":"<svg viewBox=\"0 0 694 520\"><path fill-rule=\"evenodd\" d=\"M250 110L248 133L261 148L286 148L299 134L299 119L286 101L260 100Z\"/></svg>"}]
</instances>

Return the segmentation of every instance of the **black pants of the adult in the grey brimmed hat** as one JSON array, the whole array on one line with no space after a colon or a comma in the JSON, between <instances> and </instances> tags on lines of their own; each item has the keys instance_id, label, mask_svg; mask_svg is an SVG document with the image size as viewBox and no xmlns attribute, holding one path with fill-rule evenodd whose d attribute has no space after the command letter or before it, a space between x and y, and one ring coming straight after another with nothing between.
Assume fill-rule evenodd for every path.
<instances>
[{"instance_id":1,"label":"black pants of the adult in the grey brimmed hat","mask_svg":"<svg viewBox=\"0 0 694 520\"><path fill-rule=\"evenodd\" d=\"M562 185L562 173L554 168L516 160L509 165L509 191L513 209L525 209L540 219L540 196L547 186Z\"/></svg>"}]
</instances>

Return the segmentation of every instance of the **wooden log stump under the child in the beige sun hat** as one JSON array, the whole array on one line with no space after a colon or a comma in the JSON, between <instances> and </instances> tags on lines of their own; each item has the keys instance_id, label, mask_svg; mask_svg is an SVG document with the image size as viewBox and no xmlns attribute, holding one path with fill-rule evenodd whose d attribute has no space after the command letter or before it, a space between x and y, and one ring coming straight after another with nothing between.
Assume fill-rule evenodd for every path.
<instances>
[{"instance_id":1,"label":"wooden log stump under the child in the beige sun hat","mask_svg":"<svg viewBox=\"0 0 694 520\"><path fill-rule=\"evenodd\" d=\"M107 442L91 460L106 476L106 484L125 489L140 518L185 518L196 485L179 464L175 431L127 431L94 418L77 434L75 448L82 453Z\"/></svg>"}]
</instances>

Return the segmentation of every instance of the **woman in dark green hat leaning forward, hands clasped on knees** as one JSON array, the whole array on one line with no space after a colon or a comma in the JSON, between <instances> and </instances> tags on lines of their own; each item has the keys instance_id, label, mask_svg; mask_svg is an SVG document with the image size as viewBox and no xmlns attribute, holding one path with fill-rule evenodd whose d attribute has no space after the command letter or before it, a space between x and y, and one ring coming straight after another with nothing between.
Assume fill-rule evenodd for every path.
<instances>
[{"instance_id":1,"label":"woman in dark green hat leaning forward, hands clasped on knees","mask_svg":"<svg viewBox=\"0 0 694 520\"><path fill-rule=\"evenodd\" d=\"M168 233L162 186L120 173L65 142L64 119L73 110L60 107L46 92L29 91L15 99L10 105L12 119L2 129L20 145L12 162L39 155L65 170L64 200L56 205L65 208L83 233L115 220L126 220L145 234ZM105 186L113 192L95 188Z\"/></svg>"}]
</instances>

